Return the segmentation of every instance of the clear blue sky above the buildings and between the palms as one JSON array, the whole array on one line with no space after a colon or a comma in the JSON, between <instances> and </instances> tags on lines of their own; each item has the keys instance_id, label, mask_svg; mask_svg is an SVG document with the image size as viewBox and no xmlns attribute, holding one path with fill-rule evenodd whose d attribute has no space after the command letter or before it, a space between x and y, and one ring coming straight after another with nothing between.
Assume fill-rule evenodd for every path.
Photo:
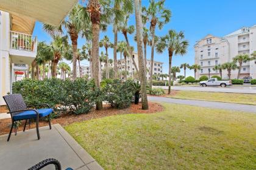
<instances>
[{"instance_id":1,"label":"clear blue sky above the buildings and between the palms","mask_svg":"<svg viewBox=\"0 0 256 170\"><path fill-rule=\"evenodd\" d=\"M157 1L157 0L155 0ZM142 0L143 6L148 5L148 0ZM244 3L246 2L246 6ZM184 56L174 56L173 66L180 66L182 63L194 64L194 44L207 34L215 36L224 36L243 26L252 26L256 24L256 1L238 1L238 0L166 0L166 8L172 12L171 21L166 24L162 30L156 30L157 36L166 35L169 29L176 31L182 30L185 32L185 38L190 42L188 53ZM130 25L135 25L134 16L130 17ZM100 39L104 35L110 38L113 42L114 36L112 25L108 27L107 32L102 32ZM51 38L47 33L44 33L42 24L35 24L34 33L39 41L50 42ZM134 35L129 35L130 44L137 51L137 44L133 41ZM118 41L124 40L121 33L118 34ZM79 38L78 46L85 44L85 40ZM100 49L104 50L104 49ZM151 47L147 49L147 56L150 58ZM110 58L113 58L113 49L108 50ZM119 55L118 55L119 57ZM168 53L158 54L155 52L154 58L156 61L161 61L163 64L163 73L168 73ZM70 61L66 61L70 63ZM87 65L87 61L82 61L82 65ZM71 64L70 64L71 65ZM179 74L183 75L183 70ZM179 75L178 74L178 75ZM192 71L188 71L187 75L193 75Z\"/></svg>"}]
</instances>

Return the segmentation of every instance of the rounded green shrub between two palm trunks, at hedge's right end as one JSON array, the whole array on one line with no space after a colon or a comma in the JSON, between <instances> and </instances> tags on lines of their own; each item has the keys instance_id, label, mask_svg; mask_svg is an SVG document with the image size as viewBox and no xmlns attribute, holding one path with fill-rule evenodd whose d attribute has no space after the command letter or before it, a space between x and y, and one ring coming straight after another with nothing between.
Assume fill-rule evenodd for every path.
<instances>
[{"instance_id":1,"label":"rounded green shrub between two palm trunks, at hedge's right end","mask_svg":"<svg viewBox=\"0 0 256 170\"><path fill-rule=\"evenodd\" d=\"M135 94L129 80L125 82L120 80L109 81L102 90L104 101L107 101L110 106L119 109L129 107Z\"/></svg>"}]
</instances>

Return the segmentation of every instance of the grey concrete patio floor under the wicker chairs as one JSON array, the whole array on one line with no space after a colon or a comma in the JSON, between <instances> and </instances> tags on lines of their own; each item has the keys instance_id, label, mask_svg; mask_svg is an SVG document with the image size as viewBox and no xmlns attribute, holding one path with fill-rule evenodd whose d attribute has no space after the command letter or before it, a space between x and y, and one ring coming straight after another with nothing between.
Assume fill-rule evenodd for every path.
<instances>
[{"instance_id":1,"label":"grey concrete patio floor under the wicker chairs","mask_svg":"<svg viewBox=\"0 0 256 170\"><path fill-rule=\"evenodd\" d=\"M21 128L21 127L20 127ZM46 158L60 161L62 169L103 169L60 124L40 127L41 139L35 129L0 136L0 169L28 169ZM46 166L44 169L54 169Z\"/></svg>"}]
</instances>

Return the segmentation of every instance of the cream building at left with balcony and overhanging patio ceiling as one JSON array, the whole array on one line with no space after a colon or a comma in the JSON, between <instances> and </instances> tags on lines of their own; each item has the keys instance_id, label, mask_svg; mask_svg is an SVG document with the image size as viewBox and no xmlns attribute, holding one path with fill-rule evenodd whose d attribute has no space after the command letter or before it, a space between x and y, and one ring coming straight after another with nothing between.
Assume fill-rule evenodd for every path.
<instances>
[{"instance_id":1,"label":"cream building at left with balcony and overhanging patio ceiling","mask_svg":"<svg viewBox=\"0 0 256 170\"><path fill-rule=\"evenodd\" d=\"M12 93L12 82L26 73L37 55L35 21L59 25L77 0L1 1L0 5L0 105ZM24 77L24 75L23 75Z\"/></svg>"}]
</instances>

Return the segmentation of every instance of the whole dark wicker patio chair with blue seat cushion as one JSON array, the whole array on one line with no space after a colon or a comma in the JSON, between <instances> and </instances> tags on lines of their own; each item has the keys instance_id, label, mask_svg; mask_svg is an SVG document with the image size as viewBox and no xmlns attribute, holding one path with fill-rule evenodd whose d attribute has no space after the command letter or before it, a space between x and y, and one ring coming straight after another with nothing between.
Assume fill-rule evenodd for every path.
<instances>
[{"instance_id":1,"label":"whole dark wicker patio chair with blue seat cushion","mask_svg":"<svg viewBox=\"0 0 256 170\"><path fill-rule=\"evenodd\" d=\"M23 129L23 132L24 132L26 129L27 120L35 119L36 126L37 126L36 129L37 129L38 140L40 140L40 134L38 129L38 123L39 123L40 117L48 117L49 127L50 129L52 129L50 114L53 112L53 110L50 108L49 104L35 104L35 105L27 106L21 94L5 95L3 98L9 109L9 112L7 114L10 114L12 118L12 126L10 128L10 133L7 141L10 140L10 135L12 134L12 129L15 121L26 120L24 129ZM32 107L42 107L42 106L47 108L31 109Z\"/></svg>"}]
</instances>

